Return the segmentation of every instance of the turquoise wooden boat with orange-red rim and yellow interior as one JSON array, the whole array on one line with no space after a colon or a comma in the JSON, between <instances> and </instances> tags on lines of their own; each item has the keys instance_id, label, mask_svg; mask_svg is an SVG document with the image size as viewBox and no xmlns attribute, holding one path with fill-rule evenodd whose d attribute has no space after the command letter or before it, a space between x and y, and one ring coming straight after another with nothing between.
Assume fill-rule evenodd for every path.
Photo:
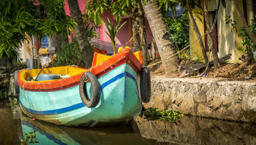
<instances>
[{"instance_id":1,"label":"turquoise wooden boat with orange-red rim and yellow interior","mask_svg":"<svg viewBox=\"0 0 256 145\"><path fill-rule=\"evenodd\" d=\"M27 81L36 77L40 69L23 69L17 75L20 108L30 117L56 125L93 127L128 123L141 111L141 69L140 51L132 53L126 47L112 57L94 53L91 69L61 66L41 71L58 74L62 79ZM90 82L85 81L89 72L96 76L98 89L90 78ZM95 91L99 94L97 104L86 106L84 100L95 101Z\"/></svg>"}]
</instances>

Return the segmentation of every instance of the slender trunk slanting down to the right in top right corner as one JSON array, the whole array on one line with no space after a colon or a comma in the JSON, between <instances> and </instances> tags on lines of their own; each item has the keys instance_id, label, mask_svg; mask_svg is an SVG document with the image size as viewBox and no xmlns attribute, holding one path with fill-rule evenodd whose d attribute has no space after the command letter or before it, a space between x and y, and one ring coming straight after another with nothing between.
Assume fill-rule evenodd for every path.
<instances>
[{"instance_id":1,"label":"slender trunk slanting down to the right in top right corner","mask_svg":"<svg viewBox=\"0 0 256 145\"><path fill-rule=\"evenodd\" d=\"M243 24L244 24L244 27L245 27L245 30L246 30L247 34L249 35L249 37L252 40L252 42L256 45L256 37L254 37L253 34L251 33L251 31L250 31L250 29L249 29L249 27L247 25L247 21L244 18L243 13L242 13L240 7L238 6L237 0L234 0L234 5L237 7L238 13L239 13L239 15L240 15L240 17L241 17L241 19L243 21ZM249 59L250 62L253 61L253 54L252 54L252 50L251 49L248 49L248 59Z\"/></svg>"}]
</instances>

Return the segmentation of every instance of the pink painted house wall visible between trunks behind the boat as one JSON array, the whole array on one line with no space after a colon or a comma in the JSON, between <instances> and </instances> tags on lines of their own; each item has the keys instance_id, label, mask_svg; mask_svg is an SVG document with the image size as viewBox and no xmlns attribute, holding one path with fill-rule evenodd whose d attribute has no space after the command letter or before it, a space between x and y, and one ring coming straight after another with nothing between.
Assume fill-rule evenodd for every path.
<instances>
[{"instance_id":1,"label":"pink painted house wall visible between trunks behind the boat","mask_svg":"<svg viewBox=\"0 0 256 145\"><path fill-rule=\"evenodd\" d=\"M79 8L82 12L82 14L84 14L84 9L86 8L86 2L87 0L77 0ZM65 1L65 6L64 6L64 10L66 11L66 15L70 16L70 10L69 10L69 6L68 6L68 2ZM117 22L115 20L115 16L112 16L111 13L109 12L103 12L102 15L102 20L107 21L106 17L109 17L110 21L114 23L114 25L117 25ZM120 22L120 25L127 21L122 28L118 31L117 35L116 35L116 44L120 44L120 45L124 45L125 43L127 43L125 46L130 46L130 42L128 42L130 40L130 36L129 36L129 23L128 23L128 19L129 17L132 17L132 14L130 16L123 16L122 17L122 21ZM108 29L106 29L106 26L104 25L104 22L102 21L102 27L101 29L96 30L96 32L98 32L98 34L100 35L100 40L101 41L106 41L106 42L111 42L109 36L105 33L108 32ZM147 19L145 19L145 30L146 30L146 38L147 38L147 44L152 44L152 37L151 37L151 29L150 26L148 25L148 21ZM151 49L152 49L152 45L151 45Z\"/></svg>"}]
</instances>

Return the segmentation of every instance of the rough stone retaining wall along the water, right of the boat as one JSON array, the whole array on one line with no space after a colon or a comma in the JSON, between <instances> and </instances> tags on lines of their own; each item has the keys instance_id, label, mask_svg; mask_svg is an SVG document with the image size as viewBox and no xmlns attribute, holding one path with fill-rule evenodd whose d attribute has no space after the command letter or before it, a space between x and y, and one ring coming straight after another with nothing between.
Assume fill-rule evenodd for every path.
<instances>
[{"instance_id":1,"label":"rough stone retaining wall along the water, right of the boat","mask_svg":"<svg viewBox=\"0 0 256 145\"><path fill-rule=\"evenodd\" d=\"M145 108L172 108L195 116L256 123L256 81L205 78L151 79Z\"/></svg>"}]
</instances>

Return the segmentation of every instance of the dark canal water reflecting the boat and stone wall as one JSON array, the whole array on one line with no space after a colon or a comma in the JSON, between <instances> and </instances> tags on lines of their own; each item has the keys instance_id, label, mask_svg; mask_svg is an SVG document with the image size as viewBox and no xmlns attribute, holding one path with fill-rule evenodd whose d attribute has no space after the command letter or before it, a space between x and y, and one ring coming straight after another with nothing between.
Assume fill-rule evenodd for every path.
<instances>
[{"instance_id":1,"label":"dark canal water reflecting the boat and stone wall","mask_svg":"<svg viewBox=\"0 0 256 145\"><path fill-rule=\"evenodd\" d=\"M256 144L256 125L183 116L177 122L137 117L127 126L72 128L32 120L0 103L0 144L19 144L36 131L36 144ZM34 140L35 140L34 139Z\"/></svg>"}]
</instances>

